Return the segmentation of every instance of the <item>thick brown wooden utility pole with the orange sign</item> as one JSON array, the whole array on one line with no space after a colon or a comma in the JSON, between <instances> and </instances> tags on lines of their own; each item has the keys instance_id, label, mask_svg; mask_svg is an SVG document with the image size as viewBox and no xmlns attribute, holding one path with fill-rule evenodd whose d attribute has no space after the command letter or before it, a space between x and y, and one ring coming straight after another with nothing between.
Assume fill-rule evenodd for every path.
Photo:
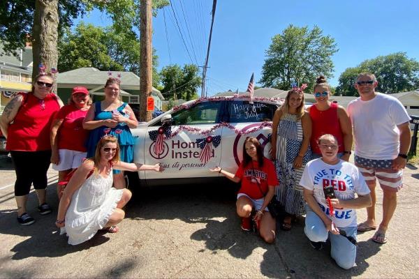
<instances>
[{"instance_id":1,"label":"thick brown wooden utility pole with the orange sign","mask_svg":"<svg viewBox=\"0 0 419 279\"><path fill-rule=\"evenodd\" d=\"M140 121L152 120L152 112L147 112L152 76L152 0L140 0Z\"/></svg>"}]
</instances>

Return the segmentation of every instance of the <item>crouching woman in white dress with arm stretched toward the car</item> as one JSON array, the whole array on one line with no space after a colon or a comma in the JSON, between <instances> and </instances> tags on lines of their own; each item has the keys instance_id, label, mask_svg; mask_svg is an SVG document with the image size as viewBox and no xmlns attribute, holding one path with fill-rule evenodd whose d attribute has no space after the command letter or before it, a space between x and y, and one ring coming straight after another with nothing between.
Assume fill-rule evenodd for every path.
<instances>
[{"instance_id":1,"label":"crouching woman in white dress with arm stretched toward the car","mask_svg":"<svg viewBox=\"0 0 419 279\"><path fill-rule=\"evenodd\" d=\"M105 135L96 146L94 158L85 160L68 181L59 203L55 225L67 233L68 243L77 245L91 239L99 229L115 233L124 219L122 208L131 191L112 188L112 169L162 172L156 165L124 163L119 160L117 138Z\"/></svg>"}]
</instances>

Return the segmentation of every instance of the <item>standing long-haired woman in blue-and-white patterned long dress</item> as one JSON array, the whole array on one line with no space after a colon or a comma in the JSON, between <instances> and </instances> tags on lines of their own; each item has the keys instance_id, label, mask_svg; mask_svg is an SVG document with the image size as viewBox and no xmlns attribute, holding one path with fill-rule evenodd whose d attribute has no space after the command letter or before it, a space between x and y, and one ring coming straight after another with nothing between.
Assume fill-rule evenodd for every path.
<instances>
[{"instance_id":1,"label":"standing long-haired woman in blue-and-white patterned long dress","mask_svg":"<svg viewBox=\"0 0 419 279\"><path fill-rule=\"evenodd\" d=\"M304 89L294 86L285 103L274 114L272 123L272 160L275 161L279 187L277 197L286 216L281 229L290 230L295 216L302 216L304 197L299 185L304 166L311 159L311 119L304 110Z\"/></svg>"}]
</instances>

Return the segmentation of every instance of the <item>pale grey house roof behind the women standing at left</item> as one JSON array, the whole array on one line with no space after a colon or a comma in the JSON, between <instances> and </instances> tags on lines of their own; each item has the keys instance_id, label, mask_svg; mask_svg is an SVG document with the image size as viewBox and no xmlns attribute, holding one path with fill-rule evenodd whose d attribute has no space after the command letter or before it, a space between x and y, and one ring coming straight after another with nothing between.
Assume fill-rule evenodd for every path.
<instances>
[{"instance_id":1,"label":"pale grey house roof behind the women standing at left","mask_svg":"<svg viewBox=\"0 0 419 279\"><path fill-rule=\"evenodd\" d=\"M112 73L112 77L117 77L119 74L121 75L121 89L139 91L140 77L138 77L138 75L135 75L132 72L118 71L110 71L110 73ZM72 88L80 85L87 87L87 89L92 89L105 84L108 77L108 71L105 70L98 70L93 67L78 68L59 73L57 75L57 85L59 88ZM164 97L159 90L153 87L152 91L159 96L161 100L164 100Z\"/></svg>"}]
</instances>

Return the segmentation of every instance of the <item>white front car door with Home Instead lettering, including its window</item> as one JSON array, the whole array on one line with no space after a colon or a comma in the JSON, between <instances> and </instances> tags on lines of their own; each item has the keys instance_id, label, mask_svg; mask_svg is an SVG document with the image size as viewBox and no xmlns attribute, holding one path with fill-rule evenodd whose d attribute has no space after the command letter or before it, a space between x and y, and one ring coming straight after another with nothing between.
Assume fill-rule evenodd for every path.
<instances>
[{"instance_id":1,"label":"white front car door with Home Instead lettering, including its window","mask_svg":"<svg viewBox=\"0 0 419 279\"><path fill-rule=\"evenodd\" d=\"M145 135L145 163L150 165L161 163L165 171L163 174L145 172L145 178L149 180L217 176L218 174L213 174L208 168L220 164L222 141L218 140L222 137L223 129L216 129L210 134L206 134L205 131L220 122L222 107L221 101L205 101L173 112L169 138L163 140L163 151L160 151L160 154L155 152L154 146L156 130L161 124L155 123L154 126L149 126ZM207 150L210 159L203 162L200 154L205 143L202 142L208 136L212 137L215 142L209 152Z\"/></svg>"}]
</instances>

